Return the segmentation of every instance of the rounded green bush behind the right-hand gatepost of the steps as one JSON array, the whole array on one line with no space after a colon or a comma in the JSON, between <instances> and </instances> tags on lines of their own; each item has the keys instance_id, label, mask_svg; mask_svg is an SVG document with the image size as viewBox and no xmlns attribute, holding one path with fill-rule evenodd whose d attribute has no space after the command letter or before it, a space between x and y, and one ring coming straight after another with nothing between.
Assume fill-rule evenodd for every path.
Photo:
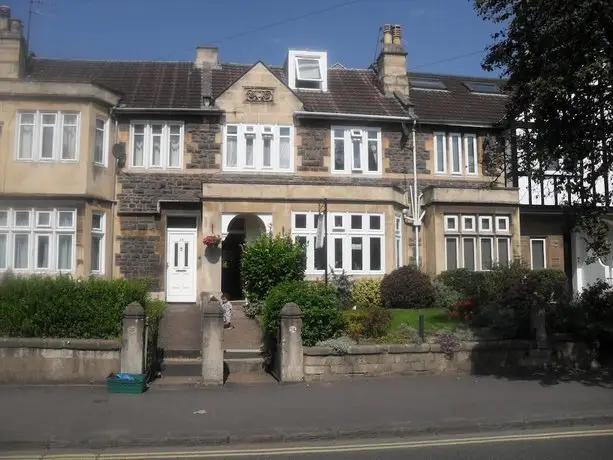
<instances>
[{"instance_id":1,"label":"rounded green bush behind the right-hand gatepost of the steps","mask_svg":"<svg viewBox=\"0 0 613 460\"><path fill-rule=\"evenodd\" d=\"M271 289L264 301L262 328L269 341L278 340L281 309L294 302L302 310L302 342L310 347L337 336L345 323L335 289L309 281L284 281Z\"/></svg>"}]
</instances>

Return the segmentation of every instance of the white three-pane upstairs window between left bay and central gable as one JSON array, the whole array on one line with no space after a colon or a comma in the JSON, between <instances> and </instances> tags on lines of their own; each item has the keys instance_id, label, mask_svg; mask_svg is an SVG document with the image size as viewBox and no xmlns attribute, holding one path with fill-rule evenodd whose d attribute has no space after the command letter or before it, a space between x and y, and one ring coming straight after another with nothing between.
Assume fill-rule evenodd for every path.
<instances>
[{"instance_id":1,"label":"white three-pane upstairs window between left bay and central gable","mask_svg":"<svg viewBox=\"0 0 613 460\"><path fill-rule=\"evenodd\" d=\"M183 123L135 121L130 127L132 168L180 169Z\"/></svg>"}]
</instances>

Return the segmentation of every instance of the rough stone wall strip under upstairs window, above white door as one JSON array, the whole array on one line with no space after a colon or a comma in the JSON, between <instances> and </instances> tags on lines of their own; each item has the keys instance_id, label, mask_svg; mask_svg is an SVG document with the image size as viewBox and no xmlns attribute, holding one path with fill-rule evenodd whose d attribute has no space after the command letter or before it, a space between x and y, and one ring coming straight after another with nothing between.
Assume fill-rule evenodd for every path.
<instances>
[{"instance_id":1,"label":"rough stone wall strip under upstairs window, above white door","mask_svg":"<svg viewBox=\"0 0 613 460\"><path fill-rule=\"evenodd\" d=\"M160 201L200 201L202 178L194 174L127 173L118 176L120 213L156 213Z\"/></svg>"}]
</instances>

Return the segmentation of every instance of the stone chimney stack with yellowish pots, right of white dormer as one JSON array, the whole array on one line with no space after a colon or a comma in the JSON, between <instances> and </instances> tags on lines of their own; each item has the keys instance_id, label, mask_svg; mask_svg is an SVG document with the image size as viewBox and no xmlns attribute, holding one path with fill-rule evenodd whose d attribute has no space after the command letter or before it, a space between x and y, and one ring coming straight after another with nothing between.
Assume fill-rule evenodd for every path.
<instances>
[{"instance_id":1,"label":"stone chimney stack with yellowish pots, right of white dormer","mask_svg":"<svg viewBox=\"0 0 613 460\"><path fill-rule=\"evenodd\" d=\"M407 54L402 45L402 27L385 24L383 26L383 47L377 58L379 85L386 95L396 93L408 101Z\"/></svg>"}]
</instances>

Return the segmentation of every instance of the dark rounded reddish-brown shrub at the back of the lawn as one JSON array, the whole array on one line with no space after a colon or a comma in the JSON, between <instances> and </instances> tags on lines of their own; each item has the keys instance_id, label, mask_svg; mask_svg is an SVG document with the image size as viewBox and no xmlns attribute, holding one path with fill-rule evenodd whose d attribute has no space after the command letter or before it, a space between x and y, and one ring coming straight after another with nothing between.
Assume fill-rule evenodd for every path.
<instances>
[{"instance_id":1,"label":"dark rounded reddish-brown shrub at the back of the lawn","mask_svg":"<svg viewBox=\"0 0 613 460\"><path fill-rule=\"evenodd\" d=\"M381 281L381 300L387 308L427 308L434 303L434 286L417 268L397 268Z\"/></svg>"}]
</instances>

